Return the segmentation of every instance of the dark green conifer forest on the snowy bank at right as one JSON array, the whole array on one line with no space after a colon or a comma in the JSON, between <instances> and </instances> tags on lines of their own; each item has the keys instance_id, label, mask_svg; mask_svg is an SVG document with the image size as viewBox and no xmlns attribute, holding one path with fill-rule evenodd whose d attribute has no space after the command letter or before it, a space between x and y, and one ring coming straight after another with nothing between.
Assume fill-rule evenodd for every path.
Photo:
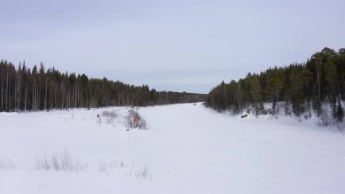
<instances>
[{"instance_id":1,"label":"dark green conifer forest on the snowy bank at right","mask_svg":"<svg viewBox=\"0 0 345 194\"><path fill-rule=\"evenodd\" d=\"M324 48L306 62L248 73L238 81L221 82L208 94L207 106L233 114L252 111L297 117L316 115L323 125L344 117L345 48ZM267 108L265 104L271 104Z\"/></svg>"}]
</instances>

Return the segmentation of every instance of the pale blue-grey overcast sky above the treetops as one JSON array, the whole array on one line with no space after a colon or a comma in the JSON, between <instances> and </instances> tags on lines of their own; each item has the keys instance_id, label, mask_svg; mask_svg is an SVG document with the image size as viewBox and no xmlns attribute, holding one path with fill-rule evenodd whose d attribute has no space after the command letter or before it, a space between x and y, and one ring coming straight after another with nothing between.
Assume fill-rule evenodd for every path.
<instances>
[{"instance_id":1,"label":"pale blue-grey overcast sky above the treetops","mask_svg":"<svg viewBox=\"0 0 345 194\"><path fill-rule=\"evenodd\" d=\"M0 0L0 59L157 90L222 80L345 47L343 0Z\"/></svg>"}]
</instances>

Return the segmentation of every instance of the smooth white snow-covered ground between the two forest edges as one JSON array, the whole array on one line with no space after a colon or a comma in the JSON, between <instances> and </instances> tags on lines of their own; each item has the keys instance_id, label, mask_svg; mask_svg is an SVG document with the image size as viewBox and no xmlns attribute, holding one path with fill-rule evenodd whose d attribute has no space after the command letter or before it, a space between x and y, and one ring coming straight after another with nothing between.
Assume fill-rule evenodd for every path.
<instances>
[{"instance_id":1,"label":"smooth white snow-covered ground between the two forest edges","mask_svg":"<svg viewBox=\"0 0 345 194\"><path fill-rule=\"evenodd\" d=\"M126 131L128 109L0 113L0 193L345 193L343 133L200 103Z\"/></svg>"}]
</instances>

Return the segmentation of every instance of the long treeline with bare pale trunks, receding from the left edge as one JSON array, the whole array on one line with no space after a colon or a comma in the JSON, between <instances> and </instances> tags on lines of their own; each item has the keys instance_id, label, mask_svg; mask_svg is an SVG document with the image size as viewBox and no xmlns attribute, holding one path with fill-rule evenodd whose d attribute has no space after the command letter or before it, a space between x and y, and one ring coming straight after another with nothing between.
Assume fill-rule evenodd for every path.
<instances>
[{"instance_id":1,"label":"long treeline with bare pale trunks, receding from the left edge","mask_svg":"<svg viewBox=\"0 0 345 194\"><path fill-rule=\"evenodd\" d=\"M30 70L25 61L0 62L0 112L49 110L75 107L148 106L205 101L206 94L166 92L103 79L45 69Z\"/></svg>"}]
</instances>

